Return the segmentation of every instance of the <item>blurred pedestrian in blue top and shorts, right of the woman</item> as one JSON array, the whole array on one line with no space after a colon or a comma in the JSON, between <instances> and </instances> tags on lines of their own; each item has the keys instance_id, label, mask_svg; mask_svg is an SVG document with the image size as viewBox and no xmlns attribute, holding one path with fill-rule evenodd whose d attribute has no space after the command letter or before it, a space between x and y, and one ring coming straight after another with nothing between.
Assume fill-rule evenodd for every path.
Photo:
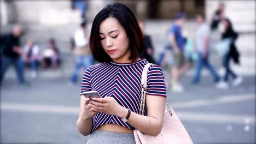
<instances>
[{"instance_id":1,"label":"blurred pedestrian in blue top and shorts, right of the woman","mask_svg":"<svg viewBox=\"0 0 256 144\"><path fill-rule=\"evenodd\" d=\"M184 88L179 83L181 76L190 68L190 64L184 56L185 39L182 36L182 26L185 22L185 14L177 13L175 21L169 31L168 39L171 43L174 64L172 67L172 92L183 92Z\"/></svg>"}]
</instances>

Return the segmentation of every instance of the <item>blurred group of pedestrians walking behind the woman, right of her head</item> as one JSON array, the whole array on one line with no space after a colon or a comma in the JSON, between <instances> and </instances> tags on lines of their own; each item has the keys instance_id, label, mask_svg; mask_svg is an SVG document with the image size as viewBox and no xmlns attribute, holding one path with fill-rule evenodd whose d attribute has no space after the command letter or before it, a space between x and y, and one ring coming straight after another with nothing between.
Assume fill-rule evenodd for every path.
<instances>
[{"instance_id":1,"label":"blurred group of pedestrians walking behind the woman, right of her head","mask_svg":"<svg viewBox=\"0 0 256 144\"><path fill-rule=\"evenodd\" d=\"M219 3L217 10L212 15L210 25L206 22L205 15L197 14L195 17L197 22L195 38L190 38L183 32L182 26L185 23L186 14L177 13L174 22L167 31L164 49L162 49L156 62L152 59L154 51L152 43L147 42L148 40L151 41L150 37L145 36L147 55L143 57L148 59L149 62L166 68L168 74L165 75L165 81L172 92L184 91L184 87L179 80L193 65L195 67L195 74L193 80L191 80L193 85L200 82L202 68L210 71L217 88L227 89L230 86L236 87L241 84L242 77L237 76L230 67L231 60L236 64L240 63L240 53L235 45L238 33L232 27L228 16L224 15L224 10L225 5ZM210 43L210 38L216 34L220 35L221 39L217 43ZM222 58L221 61L225 70L223 77L218 74L210 62L210 47L213 47ZM232 82L229 82L230 76Z\"/></svg>"}]
</instances>

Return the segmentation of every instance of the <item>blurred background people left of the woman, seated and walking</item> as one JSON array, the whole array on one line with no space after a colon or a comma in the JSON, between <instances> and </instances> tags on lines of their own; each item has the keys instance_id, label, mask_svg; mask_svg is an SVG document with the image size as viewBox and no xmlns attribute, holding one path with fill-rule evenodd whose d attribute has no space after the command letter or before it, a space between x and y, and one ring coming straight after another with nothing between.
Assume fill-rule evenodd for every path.
<instances>
[{"instance_id":1,"label":"blurred background people left of the woman, seated and walking","mask_svg":"<svg viewBox=\"0 0 256 144\"><path fill-rule=\"evenodd\" d=\"M94 62L88 46L88 34L85 33L87 3L86 0L71 0L71 9L79 9L82 20L80 29L74 33L71 41L71 50L74 52L76 61L71 74L71 84L78 81L80 68L87 68ZM0 35L0 86L10 65L15 68L19 84L26 87L28 86L24 75L26 68L30 69L31 77L36 78L38 67L43 69L61 67L61 52L55 38L49 38L48 46L41 50L42 47L39 47L32 38L27 40L25 46L21 46L22 34L22 27L16 25L12 32Z\"/></svg>"}]
</instances>

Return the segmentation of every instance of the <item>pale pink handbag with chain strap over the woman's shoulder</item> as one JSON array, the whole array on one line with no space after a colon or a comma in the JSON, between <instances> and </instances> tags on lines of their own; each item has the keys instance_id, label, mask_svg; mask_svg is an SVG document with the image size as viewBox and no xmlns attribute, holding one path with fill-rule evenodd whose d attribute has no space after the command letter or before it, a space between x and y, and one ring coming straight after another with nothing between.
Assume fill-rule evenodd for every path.
<instances>
[{"instance_id":1,"label":"pale pink handbag with chain strap over the woman's shoulder","mask_svg":"<svg viewBox=\"0 0 256 144\"><path fill-rule=\"evenodd\" d=\"M147 75L148 68L152 65L151 63L146 64L142 72L141 78L141 106L139 107L139 115L143 115L145 103L146 103L146 92L147 92ZM179 120L176 113L173 111L166 98L167 109L164 112L164 122L162 125L161 133L157 136L150 136L143 134L139 130L134 130L135 141L137 144L146 143L181 143L190 144L193 141L190 139L187 130Z\"/></svg>"}]
</instances>

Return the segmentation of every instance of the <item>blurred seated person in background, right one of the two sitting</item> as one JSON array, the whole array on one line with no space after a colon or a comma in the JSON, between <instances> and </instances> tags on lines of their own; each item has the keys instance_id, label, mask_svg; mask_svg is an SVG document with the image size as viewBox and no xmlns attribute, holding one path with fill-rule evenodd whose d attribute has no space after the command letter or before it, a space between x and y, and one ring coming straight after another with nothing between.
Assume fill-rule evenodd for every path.
<instances>
[{"instance_id":1,"label":"blurred seated person in background, right one of the two sitting","mask_svg":"<svg viewBox=\"0 0 256 144\"><path fill-rule=\"evenodd\" d=\"M49 39L48 44L49 47L42 53L42 66L43 68L56 68L61 63L60 50L56 45L55 39Z\"/></svg>"}]
</instances>

